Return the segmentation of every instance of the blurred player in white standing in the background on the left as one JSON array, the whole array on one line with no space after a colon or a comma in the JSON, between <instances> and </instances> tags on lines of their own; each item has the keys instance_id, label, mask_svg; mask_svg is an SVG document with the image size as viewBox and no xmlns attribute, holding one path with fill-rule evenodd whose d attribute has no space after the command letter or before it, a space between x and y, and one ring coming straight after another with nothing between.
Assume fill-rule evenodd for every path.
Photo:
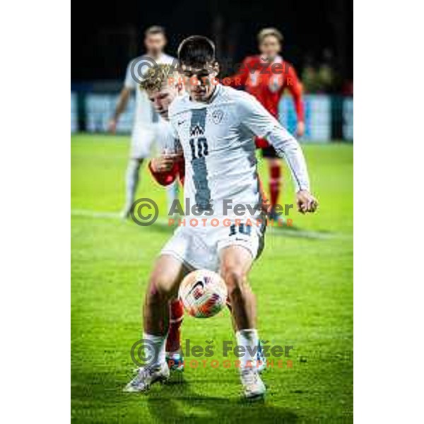
<instances>
[{"instance_id":1,"label":"blurred player in white standing in the background on the left","mask_svg":"<svg viewBox=\"0 0 424 424\"><path fill-rule=\"evenodd\" d=\"M163 52L166 45L165 30L160 26L152 26L145 33L144 44L146 54L129 62L126 68L124 87L119 95L114 116L110 121L110 131L116 131L120 114L124 112L131 91L136 92L136 110L134 113L134 124L131 134L131 150L129 163L126 168L126 200L122 216L127 218L134 203L137 186L139 184L139 170L145 158L151 154L153 141L166 146L172 139L170 124L162 119L148 100L146 92L140 90L139 84L143 73L155 64L177 64L177 59ZM177 182L167 187L168 203L177 198Z\"/></svg>"}]
</instances>

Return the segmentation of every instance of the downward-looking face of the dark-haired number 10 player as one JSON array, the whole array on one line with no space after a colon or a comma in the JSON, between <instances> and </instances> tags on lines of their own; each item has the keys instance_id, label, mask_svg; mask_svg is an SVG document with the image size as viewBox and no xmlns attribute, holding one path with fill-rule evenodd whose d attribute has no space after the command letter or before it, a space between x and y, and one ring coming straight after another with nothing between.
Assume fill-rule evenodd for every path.
<instances>
[{"instance_id":1,"label":"downward-looking face of the dark-haired number 10 player","mask_svg":"<svg viewBox=\"0 0 424 424\"><path fill-rule=\"evenodd\" d=\"M193 69L182 65L184 87L190 98L196 102L206 102L211 97L216 87L218 65L208 64L203 69Z\"/></svg>"}]
</instances>

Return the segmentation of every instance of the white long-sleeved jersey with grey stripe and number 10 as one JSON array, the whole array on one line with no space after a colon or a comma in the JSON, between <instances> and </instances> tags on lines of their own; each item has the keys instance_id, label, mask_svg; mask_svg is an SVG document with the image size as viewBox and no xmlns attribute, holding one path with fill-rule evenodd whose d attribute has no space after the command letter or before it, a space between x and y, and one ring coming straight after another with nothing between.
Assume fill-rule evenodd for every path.
<instances>
[{"instance_id":1,"label":"white long-sleeved jersey with grey stripe and number 10","mask_svg":"<svg viewBox=\"0 0 424 424\"><path fill-rule=\"evenodd\" d=\"M309 189L298 142L252 95L218 84L207 103L193 102L187 93L176 98L169 116L184 151L184 197L205 216L234 217L236 204L254 208L261 203L255 135L285 155L296 189Z\"/></svg>"}]
</instances>

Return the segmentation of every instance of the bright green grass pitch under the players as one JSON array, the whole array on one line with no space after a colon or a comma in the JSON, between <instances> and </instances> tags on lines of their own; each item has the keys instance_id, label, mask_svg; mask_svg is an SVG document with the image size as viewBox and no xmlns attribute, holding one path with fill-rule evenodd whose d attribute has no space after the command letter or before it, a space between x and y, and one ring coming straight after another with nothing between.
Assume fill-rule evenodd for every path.
<instances>
[{"instance_id":1,"label":"bright green grass pitch under the players","mask_svg":"<svg viewBox=\"0 0 424 424\"><path fill-rule=\"evenodd\" d=\"M264 404L240 401L234 367L188 366L177 384L127 394L130 348L141 338L141 301L166 225L140 227L113 213L124 204L127 137L76 135L72 155L71 415L78 423L345 423L353 420L353 146L307 145L314 216L290 213L301 232L267 231L250 281L257 294L259 330L272 345L293 345L293 367L264 373ZM263 161L259 169L267 187ZM288 172L285 170L285 175ZM293 203L291 181L280 203ZM165 190L141 170L140 196L158 202ZM92 213L94 212L94 213ZM107 214L111 213L110 215ZM104 213L104 214L102 214ZM233 340L228 311L211 319L186 316L182 338L206 346ZM198 358L199 360L206 358ZM235 360L234 356L230 359ZM208 361L210 363L210 361Z\"/></svg>"}]
</instances>

